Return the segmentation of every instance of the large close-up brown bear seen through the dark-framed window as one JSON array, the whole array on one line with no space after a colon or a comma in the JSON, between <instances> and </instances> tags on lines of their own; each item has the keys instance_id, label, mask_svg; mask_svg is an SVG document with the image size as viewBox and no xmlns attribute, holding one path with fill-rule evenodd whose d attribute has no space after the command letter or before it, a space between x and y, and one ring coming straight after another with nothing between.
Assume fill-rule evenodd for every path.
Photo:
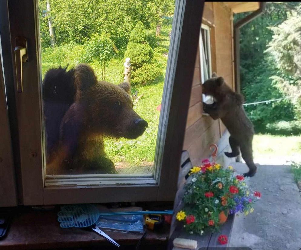
<instances>
[{"instance_id":1,"label":"large close-up brown bear seen through the dark-framed window","mask_svg":"<svg viewBox=\"0 0 301 250\"><path fill-rule=\"evenodd\" d=\"M68 72L62 68L48 71L43 93L48 175L116 173L104 152L104 138L135 139L148 127L133 110L130 85L99 82L87 64Z\"/></svg>"}]
</instances>

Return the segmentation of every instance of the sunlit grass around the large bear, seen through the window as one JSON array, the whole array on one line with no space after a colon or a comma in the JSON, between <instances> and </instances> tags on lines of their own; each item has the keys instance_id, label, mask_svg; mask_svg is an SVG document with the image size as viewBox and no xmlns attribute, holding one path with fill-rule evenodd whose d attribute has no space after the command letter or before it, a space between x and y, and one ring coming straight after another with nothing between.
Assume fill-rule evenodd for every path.
<instances>
[{"instance_id":1,"label":"sunlit grass around the large bear, seen through the window","mask_svg":"<svg viewBox=\"0 0 301 250\"><path fill-rule=\"evenodd\" d=\"M154 59L164 69L164 74L167 66L167 49L170 43L168 36L171 26L162 26L161 36L159 38L159 46L154 49ZM154 33L155 30L149 30L147 33ZM42 74L44 75L48 69L58 66L74 66L80 62L80 58L84 53L82 45L65 44L55 48L47 48L42 51ZM114 84L119 84L123 80L124 55L119 53L110 60L106 67L105 80ZM94 61L91 63L98 79L101 79L101 65ZM107 139L105 141L105 152L108 157L115 162L116 165L124 163L124 166L131 168L132 172L152 173L152 165L155 155L155 147L157 140L158 124L160 113L157 111L157 106L161 104L164 77L157 80L152 85L132 86L132 92L138 91L138 95L144 96L134 106L134 110L144 120L148 122L148 128L142 136L134 140ZM141 169L139 166L147 165L148 168ZM137 168L133 168L137 166ZM150 167L151 166L151 167ZM117 171L118 168L117 168ZM119 172L124 172L122 168Z\"/></svg>"}]
</instances>

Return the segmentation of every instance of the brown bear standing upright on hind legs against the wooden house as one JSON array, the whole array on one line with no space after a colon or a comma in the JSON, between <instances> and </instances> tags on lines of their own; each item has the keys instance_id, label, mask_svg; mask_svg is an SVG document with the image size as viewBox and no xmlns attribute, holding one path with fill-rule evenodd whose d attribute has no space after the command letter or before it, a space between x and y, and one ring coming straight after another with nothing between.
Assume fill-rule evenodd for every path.
<instances>
[{"instance_id":1,"label":"brown bear standing upright on hind legs against the wooden house","mask_svg":"<svg viewBox=\"0 0 301 250\"><path fill-rule=\"evenodd\" d=\"M249 172L243 175L250 177L255 175L256 165L253 162L252 151L254 128L243 109L243 96L234 92L223 77L217 77L215 73L202 86L203 94L215 99L213 104L203 102L204 112L214 120L220 118L230 133L229 143L232 152L225 152L225 155L236 157L240 149L242 158L249 167Z\"/></svg>"}]
</instances>

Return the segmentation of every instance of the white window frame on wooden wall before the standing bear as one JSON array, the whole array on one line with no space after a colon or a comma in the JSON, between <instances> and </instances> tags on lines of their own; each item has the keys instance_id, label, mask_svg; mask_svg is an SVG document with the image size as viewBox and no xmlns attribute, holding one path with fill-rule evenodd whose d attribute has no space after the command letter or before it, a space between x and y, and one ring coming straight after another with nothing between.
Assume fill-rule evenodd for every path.
<instances>
[{"instance_id":1,"label":"white window frame on wooden wall before the standing bear","mask_svg":"<svg viewBox=\"0 0 301 250\"><path fill-rule=\"evenodd\" d=\"M201 30L204 30L207 33L207 36L205 38L205 43L203 44L203 39L202 39L202 32ZM207 79L209 79L212 75L212 63L211 63L211 43L210 43L210 27L207 26L206 24L202 24L201 25L201 29L200 29L200 39L199 39L199 47L200 47L200 72L201 72L201 83L203 84ZM206 72L204 72L204 66L205 66L205 49L207 49L207 53L208 53L208 63L209 63L209 75L206 77L205 73L207 74L208 70ZM203 102L205 103L212 103L213 102L213 98L211 96L206 96L204 94L202 94L202 99Z\"/></svg>"}]
</instances>

